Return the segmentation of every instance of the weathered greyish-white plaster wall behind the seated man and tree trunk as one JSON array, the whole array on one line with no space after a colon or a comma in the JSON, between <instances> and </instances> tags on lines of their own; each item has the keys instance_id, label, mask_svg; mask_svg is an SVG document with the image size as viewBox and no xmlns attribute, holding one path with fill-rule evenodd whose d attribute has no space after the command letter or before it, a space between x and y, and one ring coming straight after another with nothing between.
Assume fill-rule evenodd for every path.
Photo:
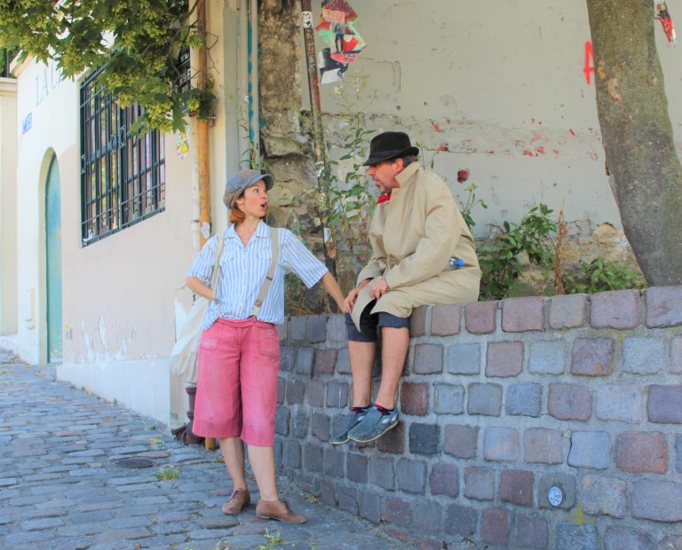
<instances>
[{"instance_id":1,"label":"weathered greyish-white plaster wall behind the seated man and tree trunk","mask_svg":"<svg viewBox=\"0 0 682 550\"><path fill-rule=\"evenodd\" d=\"M435 170L454 193L462 193L457 170L469 169L469 182L489 206L474 211L477 232L488 223L518 221L541 201L556 211L565 202L568 222L621 227L607 182L594 77L588 84L583 74L584 44L591 40L583 0L351 4L368 45L345 81L353 73L368 75L358 106L369 115L368 127L408 131L424 144L427 161L435 154ZM682 0L668 5L673 17L682 13ZM654 24L678 131L682 51ZM317 51L324 45L316 34ZM326 113L339 110L335 87L321 85ZM307 83L302 88L307 103Z\"/></svg>"}]
</instances>

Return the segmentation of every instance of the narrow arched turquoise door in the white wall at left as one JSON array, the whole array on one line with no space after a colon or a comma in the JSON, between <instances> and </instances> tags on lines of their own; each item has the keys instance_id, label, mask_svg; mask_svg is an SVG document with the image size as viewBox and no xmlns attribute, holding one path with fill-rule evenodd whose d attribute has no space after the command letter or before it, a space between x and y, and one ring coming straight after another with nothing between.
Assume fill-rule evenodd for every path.
<instances>
[{"instance_id":1,"label":"narrow arched turquoise door in the white wall at left","mask_svg":"<svg viewBox=\"0 0 682 550\"><path fill-rule=\"evenodd\" d=\"M59 164L52 157L45 184L45 279L47 282L47 361L61 361L61 199Z\"/></svg>"}]
</instances>

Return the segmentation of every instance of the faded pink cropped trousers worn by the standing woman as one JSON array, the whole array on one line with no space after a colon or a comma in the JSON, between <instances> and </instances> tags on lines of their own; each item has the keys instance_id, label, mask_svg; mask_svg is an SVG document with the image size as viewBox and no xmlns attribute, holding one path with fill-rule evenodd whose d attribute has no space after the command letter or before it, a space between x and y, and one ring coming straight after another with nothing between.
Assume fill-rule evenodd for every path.
<instances>
[{"instance_id":1,"label":"faded pink cropped trousers worn by the standing woman","mask_svg":"<svg viewBox=\"0 0 682 550\"><path fill-rule=\"evenodd\" d=\"M274 325L254 318L218 318L199 344L194 433L272 446L279 369Z\"/></svg>"}]
</instances>

